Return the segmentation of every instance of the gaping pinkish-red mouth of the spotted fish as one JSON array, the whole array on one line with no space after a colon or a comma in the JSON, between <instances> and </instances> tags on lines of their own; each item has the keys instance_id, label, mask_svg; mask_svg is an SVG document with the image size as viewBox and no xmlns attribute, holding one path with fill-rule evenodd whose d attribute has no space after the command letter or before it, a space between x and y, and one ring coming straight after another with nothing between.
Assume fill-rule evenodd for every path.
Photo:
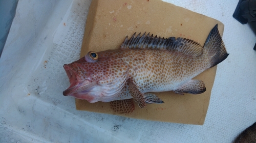
<instances>
[{"instance_id":1,"label":"gaping pinkish-red mouth of the spotted fish","mask_svg":"<svg viewBox=\"0 0 256 143\"><path fill-rule=\"evenodd\" d=\"M88 85L91 83L89 80L84 80L80 82L77 78L77 71L70 65L65 64L63 68L65 69L70 82L70 87L67 90L63 91L64 96L72 96L73 94L85 91L87 89Z\"/></svg>"}]
</instances>

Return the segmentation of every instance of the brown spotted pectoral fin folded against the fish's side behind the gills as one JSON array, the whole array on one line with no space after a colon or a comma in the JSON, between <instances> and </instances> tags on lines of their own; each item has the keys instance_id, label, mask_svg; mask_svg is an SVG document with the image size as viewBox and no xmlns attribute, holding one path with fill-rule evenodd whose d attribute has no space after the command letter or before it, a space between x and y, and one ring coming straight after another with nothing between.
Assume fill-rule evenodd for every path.
<instances>
[{"instance_id":1,"label":"brown spotted pectoral fin folded against the fish's side behind the gills","mask_svg":"<svg viewBox=\"0 0 256 143\"><path fill-rule=\"evenodd\" d=\"M128 80L129 85L129 91L131 93L131 96L135 100L135 102L138 103L140 108L144 108L146 106L146 102L144 100L143 94L137 89L137 86L133 83L132 80Z\"/></svg>"}]
</instances>

